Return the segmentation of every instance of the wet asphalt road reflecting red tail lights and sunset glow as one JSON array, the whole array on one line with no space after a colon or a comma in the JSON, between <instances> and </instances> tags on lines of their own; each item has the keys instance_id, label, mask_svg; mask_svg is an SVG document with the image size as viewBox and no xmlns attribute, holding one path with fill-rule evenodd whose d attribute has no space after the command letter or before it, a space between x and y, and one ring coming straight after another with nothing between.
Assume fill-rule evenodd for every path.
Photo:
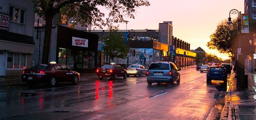
<instances>
[{"instance_id":1,"label":"wet asphalt road reflecting red tail lights and sunset glow","mask_svg":"<svg viewBox=\"0 0 256 120\"><path fill-rule=\"evenodd\" d=\"M174 86L148 86L143 75L0 87L0 119L218 119L226 97L222 82L206 84L206 73L196 68L180 73Z\"/></svg>"}]
</instances>

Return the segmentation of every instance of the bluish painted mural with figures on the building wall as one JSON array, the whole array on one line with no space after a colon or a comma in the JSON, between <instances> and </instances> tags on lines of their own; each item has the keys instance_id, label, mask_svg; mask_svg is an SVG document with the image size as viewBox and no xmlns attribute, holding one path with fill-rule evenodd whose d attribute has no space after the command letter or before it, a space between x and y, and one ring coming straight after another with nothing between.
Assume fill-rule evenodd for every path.
<instances>
[{"instance_id":1,"label":"bluish painted mural with figures on the building wall","mask_svg":"<svg viewBox=\"0 0 256 120\"><path fill-rule=\"evenodd\" d=\"M128 53L129 64L149 65L152 63L153 48L131 48ZM126 59L119 59L120 64L127 63Z\"/></svg>"}]
</instances>

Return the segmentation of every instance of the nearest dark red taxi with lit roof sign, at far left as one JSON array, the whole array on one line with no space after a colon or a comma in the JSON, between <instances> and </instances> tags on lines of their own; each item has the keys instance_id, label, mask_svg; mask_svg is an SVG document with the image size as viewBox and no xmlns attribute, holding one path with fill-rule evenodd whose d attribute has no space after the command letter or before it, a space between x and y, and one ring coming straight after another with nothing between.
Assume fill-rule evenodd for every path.
<instances>
[{"instance_id":1,"label":"nearest dark red taxi with lit roof sign, at far left","mask_svg":"<svg viewBox=\"0 0 256 120\"><path fill-rule=\"evenodd\" d=\"M38 64L22 71L21 79L29 84L49 83L55 86L61 82L77 84L80 74L63 64Z\"/></svg>"}]
</instances>

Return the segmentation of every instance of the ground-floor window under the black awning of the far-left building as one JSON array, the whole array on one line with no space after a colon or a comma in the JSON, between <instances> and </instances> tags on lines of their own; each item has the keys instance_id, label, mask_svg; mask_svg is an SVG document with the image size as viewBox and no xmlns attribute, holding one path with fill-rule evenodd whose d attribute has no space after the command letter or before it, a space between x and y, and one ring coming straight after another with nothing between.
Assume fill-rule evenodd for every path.
<instances>
[{"instance_id":1,"label":"ground-floor window under the black awning of the far-left building","mask_svg":"<svg viewBox=\"0 0 256 120\"><path fill-rule=\"evenodd\" d=\"M27 66L27 55L26 54L8 52L7 68L25 69L25 68L27 68L26 66Z\"/></svg>"}]
</instances>

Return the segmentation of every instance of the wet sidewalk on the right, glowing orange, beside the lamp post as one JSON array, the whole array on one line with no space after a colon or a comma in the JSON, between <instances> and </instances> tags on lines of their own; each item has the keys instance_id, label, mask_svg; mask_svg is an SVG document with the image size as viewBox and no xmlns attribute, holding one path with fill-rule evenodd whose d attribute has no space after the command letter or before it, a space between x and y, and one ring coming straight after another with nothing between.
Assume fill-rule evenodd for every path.
<instances>
[{"instance_id":1,"label":"wet sidewalk on the right, glowing orange, beside the lamp post","mask_svg":"<svg viewBox=\"0 0 256 120\"><path fill-rule=\"evenodd\" d=\"M245 75L248 75L248 89L243 91L236 91L237 79L234 75L231 76L230 89L222 110L222 120L256 120L256 74L245 70Z\"/></svg>"}]
</instances>

